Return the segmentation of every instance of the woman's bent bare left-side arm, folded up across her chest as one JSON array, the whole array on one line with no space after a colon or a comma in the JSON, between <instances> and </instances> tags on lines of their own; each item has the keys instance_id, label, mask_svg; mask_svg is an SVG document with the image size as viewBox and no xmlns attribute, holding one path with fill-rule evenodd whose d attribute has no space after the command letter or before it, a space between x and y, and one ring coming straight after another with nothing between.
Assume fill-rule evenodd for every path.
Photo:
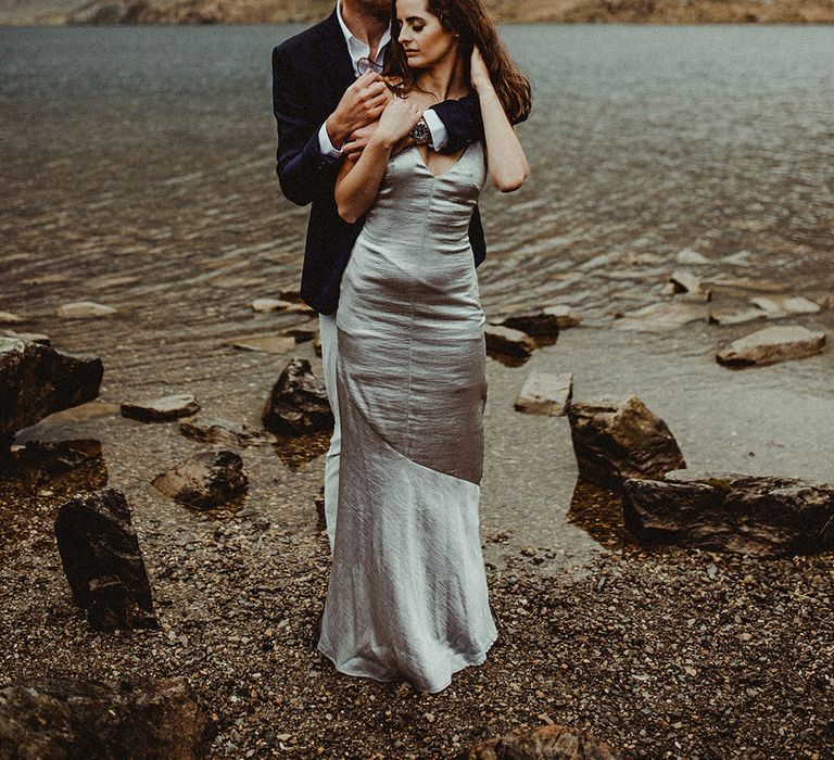
<instances>
[{"instance_id":1,"label":"woman's bent bare left-side arm, folded up across her chest","mask_svg":"<svg viewBox=\"0 0 834 760\"><path fill-rule=\"evenodd\" d=\"M391 150L421 115L422 111L416 104L394 98L382 112L358 161L344 161L336 179L336 203L339 216L345 221L357 221L374 205Z\"/></svg>"}]
</instances>

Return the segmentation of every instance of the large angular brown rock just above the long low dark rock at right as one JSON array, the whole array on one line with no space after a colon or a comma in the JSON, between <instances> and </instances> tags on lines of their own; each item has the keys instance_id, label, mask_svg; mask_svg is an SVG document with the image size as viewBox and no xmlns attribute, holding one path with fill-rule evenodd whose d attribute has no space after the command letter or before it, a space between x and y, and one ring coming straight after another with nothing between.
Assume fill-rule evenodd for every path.
<instances>
[{"instance_id":1,"label":"large angular brown rock just above the long low dark rock at right","mask_svg":"<svg viewBox=\"0 0 834 760\"><path fill-rule=\"evenodd\" d=\"M686 467L666 422L632 395L568 405L580 477L618 489L627 478L662 478Z\"/></svg>"}]
</instances>

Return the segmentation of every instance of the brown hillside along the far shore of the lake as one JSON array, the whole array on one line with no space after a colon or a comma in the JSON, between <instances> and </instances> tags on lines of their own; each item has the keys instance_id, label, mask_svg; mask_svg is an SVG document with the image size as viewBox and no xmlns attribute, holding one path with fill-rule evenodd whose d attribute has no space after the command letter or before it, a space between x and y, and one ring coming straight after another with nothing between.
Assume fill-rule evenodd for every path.
<instances>
[{"instance_id":1,"label":"brown hillside along the far shore of the lake","mask_svg":"<svg viewBox=\"0 0 834 760\"><path fill-rule=\"evenodd\" d=\"M834 0L485 0L505 22L833 23ZM333 0L0 0L0 23L258 24L324 18Z\"/></svg>"}]
</instances>

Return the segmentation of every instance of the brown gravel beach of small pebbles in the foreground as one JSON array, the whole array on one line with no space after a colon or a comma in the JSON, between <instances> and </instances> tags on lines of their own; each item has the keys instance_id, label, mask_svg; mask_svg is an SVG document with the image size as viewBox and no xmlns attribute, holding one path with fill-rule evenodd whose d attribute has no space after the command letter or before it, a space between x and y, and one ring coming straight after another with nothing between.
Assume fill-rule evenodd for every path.
<instances>
[{"instance_id":1,"label":"brown gravel beach of small pebbles in the foreground","mask_svg":"<svg viewBox=\"0 0 834 760\"><path fill-rule=\"evenodd\" d=\"M31 486L31 481L28 486ZM27 486L27 487L28 487ZM313 650L325 533L254 509L137 525L161 631L89 630L54 545L61 479L3 525L0 687L28 676L185 676L211 757L439 758L554 722L627 757L834 752L834 555L762 561L629 546L567 568L483 534L500 637L437 695L334 671ZM62 490L66 493L62 494ZM3 493L15 487L7 481ZM311 510L314 510L311 505ZM4 512L7 518L10 512Z\"/></svg>"}]
</instances>

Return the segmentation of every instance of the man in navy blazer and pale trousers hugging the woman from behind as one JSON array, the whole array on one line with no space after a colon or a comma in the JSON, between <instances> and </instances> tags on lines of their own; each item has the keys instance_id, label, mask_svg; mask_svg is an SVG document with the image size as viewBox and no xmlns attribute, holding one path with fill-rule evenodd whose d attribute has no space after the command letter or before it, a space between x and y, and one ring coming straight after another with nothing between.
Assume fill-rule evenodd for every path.
<instances>
[{"instance_id":1,"label":"man in navy blazer and pale trousers hugging the woman from behind","mask_svg":"<svg viewBox=\"0 0 834 760\"><path fill-rule=\"evenodd\" d=\"M336 177L345 155L365 148L389 101L378 72L391 39L390 0L337 0L325 21L273 50L273 106L278 123L277 174L283 194L311 205L301 297L319 313L325 385L336 418L325 458L325 515L330 550L339 497L339 401L336 391L336 311L339 283L362 220L350 225L337 211ZM446 101L424 112L407 144L455 153L483 136L478 98ZM476 266L485 256L476 207L469 226Z\"/></svg>"}]
</instances>

